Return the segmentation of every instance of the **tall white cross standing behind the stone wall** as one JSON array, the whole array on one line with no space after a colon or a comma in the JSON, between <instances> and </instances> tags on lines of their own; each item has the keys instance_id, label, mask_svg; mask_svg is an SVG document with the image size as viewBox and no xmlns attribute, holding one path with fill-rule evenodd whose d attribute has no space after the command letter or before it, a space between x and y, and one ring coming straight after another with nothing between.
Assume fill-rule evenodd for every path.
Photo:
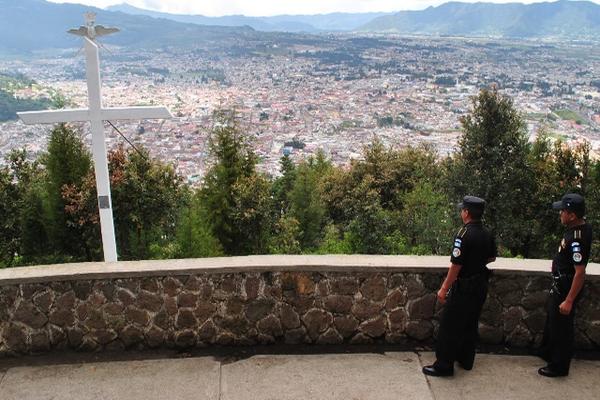
<instances>
[{"instance_id":1,"label":"tall white cross standing behind the stone wall","mask_svg":"<svg viewBox=\"0 0 600 400\"><path fill-rule=\"evenodd\" d=\"M89 16L86 16L86 20L88 18ZM93 28L93 21L92 24L88 24L86 28L89 28L90 26ZM114 121L118 119L167 119L173 118L173 116L166 107L162 106L115 108L102 107L98 46L90 38L93 38L93 34L84 34L80 36L83 36L85 45L89 108L30 111L20 112L18 115L26 124L55 124L62 122L84 121L90 122L92 132L92 155L94 157L96 187L98 190L98 209L100 210L100 229L102 231L104 261L116 262L117 244L115 240L115 228L112 215L112 201L110 197L110 181L108 174L108 161L106 158L106 143L104 138L103 121Z\"/></svg>"}]
</instances>

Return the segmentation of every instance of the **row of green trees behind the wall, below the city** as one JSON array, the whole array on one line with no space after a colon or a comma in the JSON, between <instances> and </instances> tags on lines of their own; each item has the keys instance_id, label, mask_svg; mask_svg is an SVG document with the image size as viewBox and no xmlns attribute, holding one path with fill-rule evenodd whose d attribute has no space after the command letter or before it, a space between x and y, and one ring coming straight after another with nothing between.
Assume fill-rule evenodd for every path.
<instances>
[{"instance_id":1,"label":"row of green trees behind the wall, below the city","mask_svg":"<svg viewBox=\"0 0 600 400\"><path fill-rule=\"evenodd\" d=\"M567 145L546 129L529 142L520 113L495 88L473 98L461 123L449 157L375 139L348 166L322 151L284 156L272 178L257 171L235 113L221 111L199 187L145 149L118 147L109 170L119 257L447 254L464 195L486 199L485 222L504 255L553 255L563 227L550 204L566 192L584 195L588 220L600 223L600 161L589 143ZM0 190L0 266L102 259L95 176L77 132L59 125L37 160L12 152Z\"/></svg>"}]
</instances>

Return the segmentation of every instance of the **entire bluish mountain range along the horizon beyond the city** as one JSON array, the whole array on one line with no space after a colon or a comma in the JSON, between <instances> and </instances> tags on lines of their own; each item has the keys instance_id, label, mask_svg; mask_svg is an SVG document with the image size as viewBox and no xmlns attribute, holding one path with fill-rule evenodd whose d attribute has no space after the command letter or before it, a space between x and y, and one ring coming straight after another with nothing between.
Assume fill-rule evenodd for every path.
<instances>
[{"instance_id":1,"label":"entire bluish mountain range along the horizon beyond the city","mask_svg":"<svg viewBox=\"0 0 600 400\"><path fill-rule=\"evenodd\" d=\"M395 14L205 17L159 13L123 4L103 10L44 0L0 0L0 52L79 47L78 38L68 35L66 30L82 25L86 11L96 12L99 24L121 29L118 35L103 38L105 43L149 48L215 43L222 46L239 44L244 39L279 40L292 32L332 31L600 39L600 5L589 1L561 0L528 5L450 2Z\"/></svg>"}]
</instances>

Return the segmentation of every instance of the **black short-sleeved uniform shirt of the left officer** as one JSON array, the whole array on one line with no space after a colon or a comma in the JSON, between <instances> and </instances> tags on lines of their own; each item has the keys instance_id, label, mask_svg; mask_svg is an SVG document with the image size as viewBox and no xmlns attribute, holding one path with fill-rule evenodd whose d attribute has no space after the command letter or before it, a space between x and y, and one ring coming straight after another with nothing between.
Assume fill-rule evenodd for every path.
<instances>
[{"instance_id":1,"label":"black short-sleeved uniform shirt of the left officer","mask_svg":"<svg viewBox=\"0 0 600 400\"><path fill-rule=\"evenodd\" d=\"M462 266L459 278L468 278L485 271L488 260L497 255L495 238L481 221L474 221L463 226L454 237L450 262Z\"/></svg>"}]
</instances>

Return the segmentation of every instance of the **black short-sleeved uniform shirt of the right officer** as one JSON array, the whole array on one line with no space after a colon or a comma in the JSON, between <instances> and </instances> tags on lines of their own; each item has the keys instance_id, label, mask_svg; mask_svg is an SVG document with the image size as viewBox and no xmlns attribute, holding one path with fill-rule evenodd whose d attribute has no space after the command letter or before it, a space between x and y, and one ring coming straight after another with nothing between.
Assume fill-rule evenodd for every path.
<instances>
[{"instance_id":1,"label":"black short-sleeved uniform shirt of the right officer","mask_svg":"<svg viewBox=\"0 0 600 400\"><path fill-rule=\"evenodd\" d=\"M587 265L592 246L592 226L588 223L567 229L552 261L552 273L574 275L576 265Z\"/></svg>"}]
</instances>

